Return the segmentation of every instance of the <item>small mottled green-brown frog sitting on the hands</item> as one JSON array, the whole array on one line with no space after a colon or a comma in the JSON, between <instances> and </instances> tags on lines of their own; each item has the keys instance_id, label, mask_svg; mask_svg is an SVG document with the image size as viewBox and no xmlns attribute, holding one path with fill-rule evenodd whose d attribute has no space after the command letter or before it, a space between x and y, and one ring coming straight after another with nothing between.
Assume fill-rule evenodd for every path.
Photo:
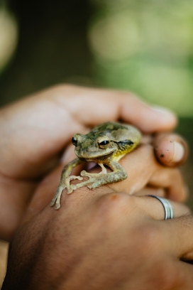
<instances>
[{"instance_id":1,"label":"small mottled green-brown frog sitting on the hands","mask_svg":"<svg viewBox=\"0 0 193 290\"><path fill-rule=\"evenodd\" d=\"M126 154L130 153L140 144L140 130L131 124L118 122L105 122L94 127L88 134L75 134L72 137L72 144L75 146L76 159L63 168L60 184L57 187L55 197L50 206L60 208L62 191L67 188L67 194L77 188L87 186L94 189L108 183L123 181L128 177L126 170L118 163ZM101 167L99 173L88 173L82 171L80 176L70 176L72 168L84 162L95 162ZM106 167L111 168L107 172ZM89 178L82 181L83 177ZM78 179L82 181L77 184L70 184L70 181Z\"/></svg>"}]
</instances>

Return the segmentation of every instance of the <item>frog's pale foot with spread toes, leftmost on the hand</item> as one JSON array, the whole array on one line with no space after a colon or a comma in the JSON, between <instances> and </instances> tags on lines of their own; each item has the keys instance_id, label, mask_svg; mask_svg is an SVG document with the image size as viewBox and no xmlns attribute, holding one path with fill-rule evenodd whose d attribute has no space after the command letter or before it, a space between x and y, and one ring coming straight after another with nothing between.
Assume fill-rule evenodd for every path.
<instances>
[{"instance_id":1,"label":"frog's pale foot with spread toes, leftmost on the hand","mask_svg":"<svg viewBox=\"0 0 193 290\"><path fill-rule=\"evenodd\" d=\"M65 182L63 184L60 183L60 185L57 187L56 193L55 193L55 197L53 198L53 200L50 203L50 206L55 205L55 210L58 210L60 208L60 198L62 195L62 191L67 188L67 194L72 193L73 188L72 186L70 186L70 181L78 179L79 181L82 181L82 177L81 176L67 176L65 178Z\"/></svg>"}]
</instances>

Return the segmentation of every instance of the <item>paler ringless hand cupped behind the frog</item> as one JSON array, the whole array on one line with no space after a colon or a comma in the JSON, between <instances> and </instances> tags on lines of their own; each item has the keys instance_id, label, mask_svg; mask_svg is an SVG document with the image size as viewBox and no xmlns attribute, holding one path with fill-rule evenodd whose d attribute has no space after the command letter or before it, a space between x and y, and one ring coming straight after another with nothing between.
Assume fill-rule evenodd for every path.
<instances>
[{"instance_id":1,"label":"paler ringless hand cupped behind the frog","mask_svg":"<svg viewBox=\"0 0 193 290\"><path fill-rule=\"evenodd\" d=\"M75 133L118 119L134 124L145 134L170 130L177 122L169 112L147 107L126 92L69 85L37 93L0 113L0 235L4 240L10 240L35 188L60 162L63 150L63 162L72 156L68 144ZM157 156L164 161L160 151L167 148L169 140L159 144ZM177 159L167 158L166 164L175 165L186 155L184 145L181 154L174 154L174 144L169 159L175 155Z\"/></svg>"}]
</instances>

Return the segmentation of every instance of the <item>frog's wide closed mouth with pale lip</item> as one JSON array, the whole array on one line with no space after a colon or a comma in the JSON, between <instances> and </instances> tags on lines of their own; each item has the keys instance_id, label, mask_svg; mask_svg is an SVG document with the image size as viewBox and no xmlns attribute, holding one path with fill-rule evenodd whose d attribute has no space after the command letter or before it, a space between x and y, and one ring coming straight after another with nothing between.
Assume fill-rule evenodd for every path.
<instances>
[{"instance_id":1,"label":"frog's wide closed mouth with pale lip","mask_svg":"<svg viewBox=\"0 0 193 290\"><path fill-rule=\"evenodd\" d=\"M87 160L104 160L109 158L112 154L114 154L114 151L116 151L116 149L109 149L108 151L104 152L103 149L101 149L101 151L95 151L95 152L87 152L87 151L83 151L81 152L81 154L79 154L79 152L75 151L75 154L77 155L77 157L79 157L80 159L87 159Z\"/></svg>"}]
</instances>

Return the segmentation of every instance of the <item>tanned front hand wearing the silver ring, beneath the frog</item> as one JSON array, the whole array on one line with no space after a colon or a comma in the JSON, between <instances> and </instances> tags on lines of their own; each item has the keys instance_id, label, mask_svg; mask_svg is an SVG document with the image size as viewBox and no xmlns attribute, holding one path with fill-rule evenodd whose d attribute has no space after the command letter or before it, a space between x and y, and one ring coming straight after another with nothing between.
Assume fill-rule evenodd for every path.
<instances>
[{"instance_id":1,"label":"tanned front hand wearing the silver ring, beneath the frog","mask_svg":"<svg viewBox=\"0 0 193 290\"><path fill-rule=\"evenodd\" d=\"M192 289L192 265L180 261L193 259L189 210L171 201L175 219L165 221L158 200L129 194L161 183L182 198L177 169L161 166L149 144L120 163L125 181L63 193L60 210L48 204L62 166L40 183L11 243L2 290Z\"/></svg>"}]
</instances>

